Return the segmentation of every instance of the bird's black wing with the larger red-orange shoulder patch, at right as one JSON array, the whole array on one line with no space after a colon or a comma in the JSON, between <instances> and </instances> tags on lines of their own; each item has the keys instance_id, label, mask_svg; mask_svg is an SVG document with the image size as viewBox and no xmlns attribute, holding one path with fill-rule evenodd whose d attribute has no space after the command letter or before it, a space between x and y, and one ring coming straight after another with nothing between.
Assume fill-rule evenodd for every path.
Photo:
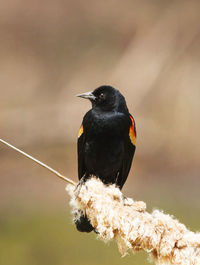
<instances>
[{"instance_id":1,"label":"bird's black wing with the larger red-orange shoulder patch, at right","mask_svg":"<svg viewBox=\"0 0 200 265\"><path fill-rule=\"evenodd\" d=\"M129 128L129 135L125 136L124 139L124 156L123 156L123 162L122 162L122 168L119 172L119 183L118 185L120 188L123 187L124 183L126 182L126 179L128 177L133 156L136 149L136 127L135 127L135 121L134 118L130 115L130 128Z\"/></svg>"}]
</instances>

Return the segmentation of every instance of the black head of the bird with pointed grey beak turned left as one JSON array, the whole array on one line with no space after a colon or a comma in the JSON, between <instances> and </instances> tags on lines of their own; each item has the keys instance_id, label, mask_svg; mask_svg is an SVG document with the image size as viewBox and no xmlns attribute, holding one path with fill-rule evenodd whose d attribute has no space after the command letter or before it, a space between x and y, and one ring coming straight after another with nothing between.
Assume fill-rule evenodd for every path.
<instances>
[{"instance_id":1,"label":"black head of the bird with pointed grey beak turned left","mask_svg":"<svg viewBox=\"0 0 200 265\"><path fill-rule=\"evenodd\" d=\"M89 99L93 108L102 111L117 110L121 102L126 106L124 97L112 86L100 86L92 92L79 94L77 97Z\"/></svg>"}]
</instances>

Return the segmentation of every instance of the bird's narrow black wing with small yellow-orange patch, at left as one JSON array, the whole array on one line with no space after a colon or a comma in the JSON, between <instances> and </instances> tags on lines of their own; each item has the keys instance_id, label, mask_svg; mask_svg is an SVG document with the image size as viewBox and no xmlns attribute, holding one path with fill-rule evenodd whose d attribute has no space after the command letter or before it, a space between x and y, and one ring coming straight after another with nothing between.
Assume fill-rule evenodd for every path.
<instances>
[{"instance_id":1,"label":"bird's narrow black wing with small yellow-orange patch, at left","mask_svg":"<svg viewBox=\"0 0 200 265\"><path fill-rule=\"evenodd\" d=\"M84 162L84 146L85 146L85 134L83 124L78 132L78 178L79 180L85 174L85 162Z\"/></svg>"}]
</instances>

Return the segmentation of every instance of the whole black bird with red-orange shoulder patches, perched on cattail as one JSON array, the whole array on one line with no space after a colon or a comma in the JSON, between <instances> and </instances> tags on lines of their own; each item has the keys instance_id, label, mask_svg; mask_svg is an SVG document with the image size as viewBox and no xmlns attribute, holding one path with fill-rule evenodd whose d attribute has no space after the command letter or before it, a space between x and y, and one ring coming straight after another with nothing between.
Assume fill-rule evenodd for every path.
<instances>
[{"instance_id":1,"label":"whole black bird with red-orange shoulder patches, perched on cattail","mask_svg":"<svg viewBox=\"0 0 200 265\"><path fill-rule=\"evenodd\" d=\"M77 96L92 103L78 133L79 180L82 183L94 175L103 183L115 183L121 189L136 148L135 121L125 98L111 86L101 86ZM93 230L84 215L76 226L82 232Z\"/></svg>"}]
</instances>

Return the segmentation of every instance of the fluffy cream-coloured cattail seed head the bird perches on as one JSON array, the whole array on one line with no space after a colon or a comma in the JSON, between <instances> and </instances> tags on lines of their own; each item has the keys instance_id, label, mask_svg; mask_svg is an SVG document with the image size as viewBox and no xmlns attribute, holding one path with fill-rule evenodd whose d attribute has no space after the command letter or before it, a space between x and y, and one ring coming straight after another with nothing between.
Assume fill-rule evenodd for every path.
<instances>
[{"instance_id":1,"label":"fluffy cream-coloured cattail seed head the bird perches on","mask_svg":"<svg viewBox=\"0 0 200 265\"><path fill-rule=\"evenodd\" d=\"M200 234L172 216L159 210L150 214L144 202L126 198L115 185L96 178L78 189L69 184L66 190L74 218L86 213L98 237L116 240L122 255L145 250L157 265L200 265Z\"/></svg>"}]
</instances>

